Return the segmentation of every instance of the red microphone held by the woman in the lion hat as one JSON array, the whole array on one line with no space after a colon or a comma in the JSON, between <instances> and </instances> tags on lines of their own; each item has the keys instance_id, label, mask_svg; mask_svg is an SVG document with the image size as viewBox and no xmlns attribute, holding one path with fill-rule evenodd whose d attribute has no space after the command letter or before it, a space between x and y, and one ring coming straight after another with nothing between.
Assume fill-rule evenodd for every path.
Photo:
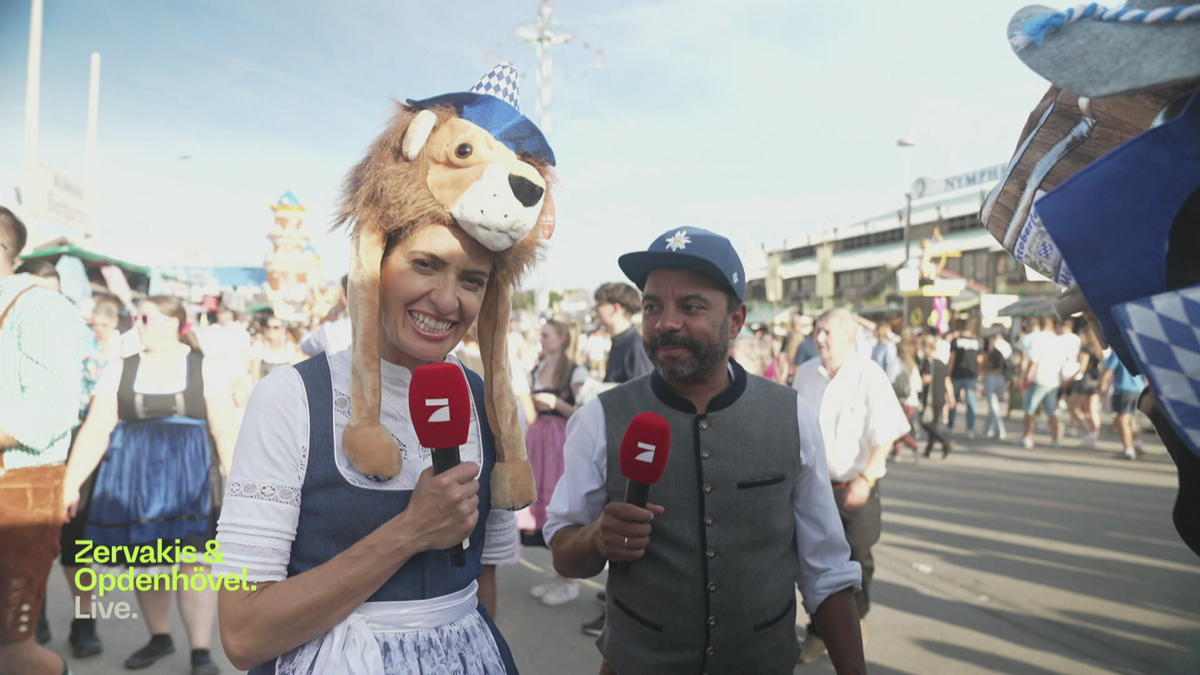
<instances>
[{"instance_id":1,"label":"red microphone held by the woman in the lion hat","mask_svg":"<svg viewBox=\"0 0 1200 675\"><path fill-rule=\"evenodd\" d=\"M416 440L433 452L433 473L458 466L458 446L470 432L470 389L462 369L452 363L428 363L413 371L408 388L408 417ZM450 552L455 567L467 565L464 548L469 539Z\"/></svg>"}]
</instances>

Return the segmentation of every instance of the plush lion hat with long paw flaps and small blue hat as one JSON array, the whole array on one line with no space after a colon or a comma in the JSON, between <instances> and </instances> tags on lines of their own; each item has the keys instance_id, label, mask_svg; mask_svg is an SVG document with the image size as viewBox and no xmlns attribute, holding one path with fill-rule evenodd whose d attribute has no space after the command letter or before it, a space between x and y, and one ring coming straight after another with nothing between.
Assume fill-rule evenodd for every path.
<instances>
[{"instance_id":1,"label":"plush lion hat with long paw flaps and small blue hat","mask_svg":"<svg viewBox=\"0 0 1200 675\"><path fill-rule=\"evenodd\" d=\"M534 501L508 368L511 293L554 227L554 154L517 109L517 73L500 64L470 91L398 104L388 129L346 179L335 228L350 223L349 313L354 330L347 459L368 477L402 467L379 423L379 271L385 245L419 226L458 226L496 253L479 312L487 420L496 435L492 504Z\"/></svg>"}]
</instances>

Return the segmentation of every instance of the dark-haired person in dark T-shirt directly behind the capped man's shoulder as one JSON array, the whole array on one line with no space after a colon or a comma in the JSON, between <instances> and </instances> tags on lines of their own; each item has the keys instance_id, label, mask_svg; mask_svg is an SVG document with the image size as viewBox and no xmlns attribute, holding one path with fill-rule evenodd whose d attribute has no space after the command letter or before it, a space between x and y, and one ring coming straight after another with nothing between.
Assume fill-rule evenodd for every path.
<instances>
[{"instance_id":1,"label":"dark-haired person in dark T-shirt directly behind the capped man's shoulder","mask_svg":"<svg viewBox=\"0 0 1200 675\"><path fill-rule=\"evenodd\" d=\"M593 312L596 321L612 335L604 381L620 384L653 372L654 364L646 356L642 335L634 328L632 321L634 315L642 311L641 292L629 283L614 281L596 288L594 299L596 306ZM602 603L604 591L596 593L596 598ZM583 632L599 637L604 632L604 620L605 615L601 613L599 617L583 625Z\"/></svg>"}]
</instances>

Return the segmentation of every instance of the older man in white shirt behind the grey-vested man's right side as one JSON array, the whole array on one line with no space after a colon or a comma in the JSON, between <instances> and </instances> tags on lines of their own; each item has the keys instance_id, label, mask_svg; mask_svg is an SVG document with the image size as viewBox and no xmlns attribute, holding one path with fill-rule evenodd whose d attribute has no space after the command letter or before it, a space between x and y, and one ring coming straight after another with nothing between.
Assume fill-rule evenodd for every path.
<instances>
[{"instance_id":1,"label":"older man in white shirt behind the grey-vested man's right side","mask_svg":"<svg viewBox=\"0 0 1200 675\"><path fill-rule=\"evenodd\" d=\"M863 587L854 602L865 619L875 572L871 546L882 527L878 482L887 472L893 442L911 426L883 369L856 351L856 330L851 312L826 312L816 328L820 358L802 365L792 386L817 411L850 557L863 567ZM818 627L809 626L802 662L815 662L824 650Z\"/></svg>"}]
</instances>

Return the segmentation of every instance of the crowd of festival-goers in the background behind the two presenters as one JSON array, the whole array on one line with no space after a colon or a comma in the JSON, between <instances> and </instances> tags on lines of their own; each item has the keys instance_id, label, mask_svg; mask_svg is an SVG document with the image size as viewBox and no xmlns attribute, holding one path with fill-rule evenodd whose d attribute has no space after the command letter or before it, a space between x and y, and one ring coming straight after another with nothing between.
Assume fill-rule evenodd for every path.
<instances>
[{"instance_id":1,"label":"crowd of festival-goers in the background behind the two presenters","mask_svg":"<svg viewBox=\"0 0 1200 675\"><path fill-rule=\"evenodd\" d=\"M19 241L19 221L11 214L0 215L8 223L10 240ZM701 231L694 232L694 237L700 237ZM6 280L8 285L23 280L26 287L56 293L53 265L30 264L35 262L41 261L18 265ZM647 285L641 277L632 279L643 287ZM688 281L696 283L697 279ZM534 503L515 519L517 540L486 558L491 566L518 560L518 543L551 546L554 533L581 509L592 509L592 520L599 521L594 502L558 503L556 509L556 492L559 501L565 501L595 491L580 486L577 482L583 479L580 476L571 476L581 470L570 447L571 420L581 411L594 410L596 404L593 407L587 404L605 400L605 392L617 384L661 375L662 366L671 363L653 338L655 316L665 311L659 304L662 300L649 298L655 304L643 307L638 288L624 282L605 283L594 293L587 324L550 318L530 322L530 328L522 330L520 319L510 322L506 365L515 383L514 394L521 401L521 423L538 491ZM114 298L101 297L86 321L90 331L82 331L84 322L78 310L62 300L59 307L62 311L58 319L78 331L78 345L68 352L78 359L71 369L72 375L80 377L78 387L85 400L82 407L78 399L64 401L65 407L73 406L76 422L82 420L82 425L68 434L70 453L61 488L65 508L60 557L72 598L88 614L91 593L78 584L83 567L76 561L78 542L130 545L179 539L203 549L205 543L216 540L222 502L229 497L244 498L248 489L245 482L235 482L233 491L227 491L226 484L233 471L239 428L247 437L278 437L278 432L270 436L262 423L248 425L246 431L241 420L250 392L270 389L259 384L281 366L294 366L316 354L344 353L352 331L344 301L325 321L306 327L306 333L269 313L239 317L224 305L211 315L190 316L185 304L170 297L146 298L132 313ZM680 313L686 317L688 311ZM641 330L635 324L637 319ZM128 328L122 331L122 325ZM1024 413L1021 443L1026 448L1033 447L1039 412L1046 413L1051 444L1057 444L1060 424L1066 424L1067 434L1082 436L1085 447L1094 446L1102 432L1103 408L1114 412L1123 447L1117 456L1135 459L1142 452L1133 402L1145 386L1144 380L1130 376L1111 350L1100 348L1086 323L1046 316L1025 319L1013 328L997 323L980 333L976 319L964 316L944 335L934 329L898 328L887 322L869 322L846 310L824 312L817 319L797 312L782 336L767 330L738 327L734 333L725 328L727 352L714 352L727 354L725 363L733 369L734 382L739 377L773 381L791 387L793 396L803 401L794 404L800 411L800 446L806 442L824 448L829 464L823 473L829 477L829 508L834 509L830 513L836 514L840 531L845 532L847 560L860 569L852 597L863 635L874 571L870 549L881 532L878 482L886 474L886 462L900 458L905 448L912 450L914 461L922 455L928 458L938 443L944 459L954 447L948 429L955 428L960 407L965 412L962 431L973 438L977 394L988 405L982 431L997 440L1006 438L1006 420L1016 408ZM61 339L64 329L59 327L55 331ZM683 338L679 341L679 347L692 359L708 347ZM451 353L468 368L482 370L474 327ZM336 372L335 392L338 390ZM674 382L690 382L690 376ZM275 424L295 426L283 417L293 408L295 393L275 394L275 414L270 418ZM718 393L713 400L720 396ZM1007 411L1002 412L1004 407ZM812 411L811 418L805 417L806 410ZM810 435L808 441L805 434ZM602 436L593 434L588 442ZM925 437L924 453L917 436ZM586 452L594 454L599 448L589 447ZM599 459L588 460L592 468L600 464ZM269 484L272 471L277 467L259 467L256 479ZM569 489L558 490L564 474ZM300 486L293 488L299 491ZM660 515L653 510L646 513L648 518ZM630 514L623 518L618 522L630 526ZM239 542L247 536L266 537L268 532L256 531L229 514L224 522L224 543L233 558L248 563L251 569L265 569L264 557L256 557L248 546L239 546ZM828 524L803 526L828 530ZM623 542L622 549L637 550L631 545L634 540ZM556 556L557 552L556 546ZM559 577L530 589L530 595L548 607L571 602L580 595L575 578L581 569L590 575L594 567L564 562ZM274 572L264 579L282 578L281 574ZM216 591L178 590L174 595L191 643L193 673L215 673L210 647ZM605 634L606 616L613 607L606 595L599 593L606 611L586 623L584 633ZM823 596L814 592L812 597ZM126 667L134 669L174 651L169 635L172 593L138 591L138 599L150 641L127 658ZM800 649L804 663L812 663L829 651L816 620L820 604L808 608L814 620ZM631 614L625 611L623 616L628 619ZM96 622L96 619L72 621L68 644L76 657L102 652ZM35 631L37 641L48 641L50 627L44 607ZM834 638L842 639L844 635ZM836 649L844 652L846 647ZM622 657L612 658L619 662Z\"/></svg>"}]
</instances>

